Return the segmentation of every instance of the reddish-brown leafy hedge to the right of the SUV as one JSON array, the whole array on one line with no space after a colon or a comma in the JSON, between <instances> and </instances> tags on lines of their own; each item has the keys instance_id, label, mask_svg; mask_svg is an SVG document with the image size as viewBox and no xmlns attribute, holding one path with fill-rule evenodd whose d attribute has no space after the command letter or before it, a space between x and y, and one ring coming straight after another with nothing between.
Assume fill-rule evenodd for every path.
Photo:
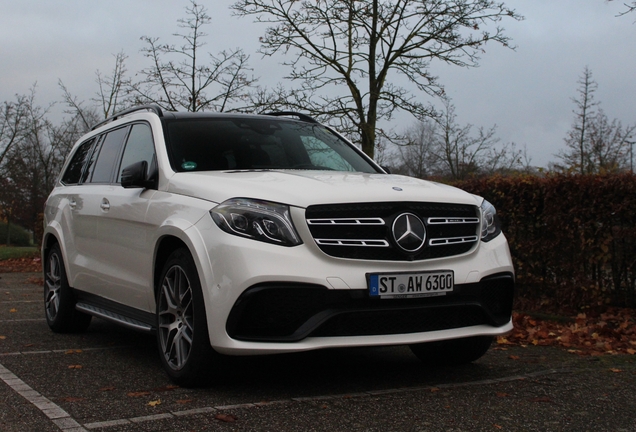
<instances>
[{"instance_id":1,"label":"reddish-brown leafy hedge to the right of the SUV","mask_svg":"<svg viewBox=\"0 0 636 432\"><path fill-rule=\"evenodd\" d=\"M455 184L497 208L521 299L636 306L636 176L490 177Z\"/></svg>"}]
</instances>

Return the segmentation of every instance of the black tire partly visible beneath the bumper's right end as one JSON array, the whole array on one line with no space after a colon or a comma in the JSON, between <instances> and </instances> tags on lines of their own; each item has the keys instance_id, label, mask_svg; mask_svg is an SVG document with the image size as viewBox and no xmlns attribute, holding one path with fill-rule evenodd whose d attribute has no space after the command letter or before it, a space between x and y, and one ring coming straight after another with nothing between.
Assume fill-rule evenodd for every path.
<instances>
[{"instance_id":1,"label":"black tire partly visible beneath the bumper's right end","mask_svg":"<svg viewBox=\"0 0 636 432\"><path fill-rule=\"evenodd\" d=\"M431 366L459 366L481 358L490 348L491 336L476 336L409 345L413 354Z\"/></svg>"}]
</instances>

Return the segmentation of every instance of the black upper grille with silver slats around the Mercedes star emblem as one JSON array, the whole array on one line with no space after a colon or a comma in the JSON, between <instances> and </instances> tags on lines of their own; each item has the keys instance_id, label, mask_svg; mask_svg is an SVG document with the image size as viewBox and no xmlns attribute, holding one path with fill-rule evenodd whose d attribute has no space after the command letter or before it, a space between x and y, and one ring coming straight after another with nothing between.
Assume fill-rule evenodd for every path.
<instances>
[{"instance_id":1,"label":"black upper grille with silver slats around the Mercedes star emblem","mask_svg":"<svg viewBox=\"0 0 636 432\"><path fill-rule=\"evenodd\" d=\"M424 224L422 247L400 248L393 224L400 215L417 216ZM395 202L314 205L305 218L318 247L338 258L417 261L460 255L477 245L480 232L477 206Z\"/></svg>"}]
</instances>

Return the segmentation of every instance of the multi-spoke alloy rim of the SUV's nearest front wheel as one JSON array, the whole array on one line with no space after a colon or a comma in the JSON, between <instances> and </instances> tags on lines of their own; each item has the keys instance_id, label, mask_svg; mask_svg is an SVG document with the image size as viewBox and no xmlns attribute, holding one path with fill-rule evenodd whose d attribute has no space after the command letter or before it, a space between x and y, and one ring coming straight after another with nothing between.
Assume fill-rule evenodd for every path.
<instances>
[{"instance_id":1,"label":"multi-spoke alloy rim of the SUV's nearest front wheel","mask_svg":"<svg viewBox=\"0 0 636 432\"><path fill-rule=\"evenodd\" d=\"M173 370L181 370L192 351L194 320L192 287L180 266L171 267L161 284L158 331L163 356Z\"/></svg>"}]
</instances>

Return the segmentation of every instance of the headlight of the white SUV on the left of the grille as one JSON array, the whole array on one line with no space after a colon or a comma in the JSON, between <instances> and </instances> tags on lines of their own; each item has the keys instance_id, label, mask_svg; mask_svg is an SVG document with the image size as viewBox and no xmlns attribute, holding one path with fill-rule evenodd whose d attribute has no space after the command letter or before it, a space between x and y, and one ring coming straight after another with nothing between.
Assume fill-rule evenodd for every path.
<instances>
[{"instance_id":1,"label":"headlight of the white SUV on the left of the grille","mask_svg":"<svg viewBox=\"0 0 636 432\"><path fill-rule=\"evenodd\" d=\"M282 246L302 243L289 215L289 206L248 198L233 198L210 210L223 231Z\"/></svg>"}]
</instances>

